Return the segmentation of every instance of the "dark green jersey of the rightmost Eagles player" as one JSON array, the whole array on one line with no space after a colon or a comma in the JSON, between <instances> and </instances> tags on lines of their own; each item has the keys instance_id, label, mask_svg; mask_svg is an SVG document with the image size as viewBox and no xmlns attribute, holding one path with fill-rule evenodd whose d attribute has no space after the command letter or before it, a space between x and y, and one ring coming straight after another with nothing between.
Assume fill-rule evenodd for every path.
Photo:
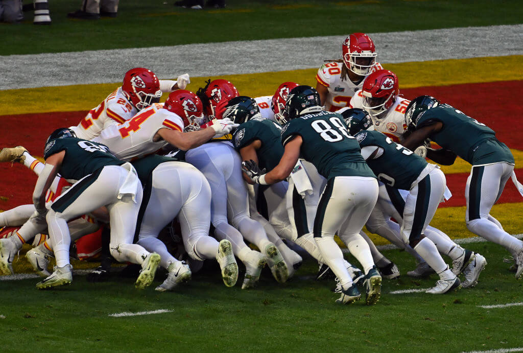
<instances>
[{"instance_id":1,"label":"dark green jersey of the rightmost Eagles player","mask_svg":"<svg viewBox=\"0 0 523 353\"><path fill-rule=\"evenodd\" d=\"M443 128L429 138L470 164L514 163L514 156L504 143L496 139L494 130L460 110L448 104L428 109L418 118L416 127L422 128L432 121L440 121Z\"/></svg>"}]
</instances>

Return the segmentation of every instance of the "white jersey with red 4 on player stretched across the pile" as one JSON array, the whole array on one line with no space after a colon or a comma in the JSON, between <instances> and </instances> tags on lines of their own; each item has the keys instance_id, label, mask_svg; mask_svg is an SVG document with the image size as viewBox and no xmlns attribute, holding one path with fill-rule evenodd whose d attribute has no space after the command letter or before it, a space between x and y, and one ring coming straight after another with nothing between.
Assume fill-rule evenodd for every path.
<instances>
[{"instance_id":1,"label":"white jersey with red 4 on player stretched across the pile","mask_svg":"<svg viewBox=\"0 0 523 353\"><path fill-rule=\"evenodd\" d=\"M127 162L166 146L165 140L153 141L156 132L163 128L183 132L184 122L175 113L163 109L163 104L155 103L131 120L104 129L93 141L105 144L117 158Z\"/></svg>"}]
</instances>

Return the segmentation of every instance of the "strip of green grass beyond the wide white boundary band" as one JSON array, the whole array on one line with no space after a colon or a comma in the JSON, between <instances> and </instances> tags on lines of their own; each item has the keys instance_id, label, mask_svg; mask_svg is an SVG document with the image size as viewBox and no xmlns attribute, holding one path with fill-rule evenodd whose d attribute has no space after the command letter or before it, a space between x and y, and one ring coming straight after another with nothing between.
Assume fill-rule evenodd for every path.
<instances>
[{"instance_id":1,"label":"strip of green grass beyond the wide white boundary band","mask_svg":"<svg viewBox=\"0 0 523 353\"><path fill-rule=\"evenodd\" d=\"M320 1L227 0L226 9L191 10L174 1L126 0L117 18L71 20L81 1L49 1L51 26L2 28L0 55L153 47L187 43L346 35L518 24L518 1Z\"/></svg>"}]
</instances>

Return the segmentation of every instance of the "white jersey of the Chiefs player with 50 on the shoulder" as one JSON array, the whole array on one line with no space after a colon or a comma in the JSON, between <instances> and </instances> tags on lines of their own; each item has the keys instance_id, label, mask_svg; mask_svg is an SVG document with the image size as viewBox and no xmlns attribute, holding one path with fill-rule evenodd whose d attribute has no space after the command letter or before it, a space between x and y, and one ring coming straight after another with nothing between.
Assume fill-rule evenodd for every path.
<instances>
[{"instance_id":1,"label":"white jersey of the Chiefs player with 50 on the shoulder","mask_svg":"<svg viewBox=\"0 0 523 353\"><path fill-rule=\"evenodd\" d=\"M409 103L411 103L410 100L397 97L392 107L387 111L381 113L378 117L371 116L374 129L389 136L394 142L401 142L403 139L401 136L407 130L405 110ZM361 90L358 90L350 100L350 108L363 109L363 95Z\"/></svg>"}]
</instances>

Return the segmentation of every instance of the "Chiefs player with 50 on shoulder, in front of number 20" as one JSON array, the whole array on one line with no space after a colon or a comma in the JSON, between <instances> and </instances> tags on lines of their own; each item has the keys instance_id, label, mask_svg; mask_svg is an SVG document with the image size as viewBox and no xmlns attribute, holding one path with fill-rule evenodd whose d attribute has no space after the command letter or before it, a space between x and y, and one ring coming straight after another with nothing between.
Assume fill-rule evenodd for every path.
<instances>
[{"instance_id":1,"label":"Chiefs player with 50 on shoulder, in front of number 20","mask_svg":"<svg viewBox=\"0 0 523 353\"><path fill-rule=\"evenodd\" d=\"M363 81L362 89L350 100L350 108L366 110L374 129L399 142L407 129L405 109L410 102L400 97L396 75L389 70L378 70Z\"/></svg>"}]
</instances>

